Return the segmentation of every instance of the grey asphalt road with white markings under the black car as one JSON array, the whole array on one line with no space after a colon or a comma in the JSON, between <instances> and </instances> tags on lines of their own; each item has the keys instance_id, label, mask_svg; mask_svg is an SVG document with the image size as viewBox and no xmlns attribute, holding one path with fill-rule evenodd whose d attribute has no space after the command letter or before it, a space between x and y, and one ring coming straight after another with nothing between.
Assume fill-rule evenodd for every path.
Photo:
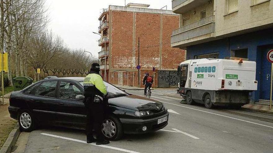
<instances>
[{"instance_id":1,"label":"grey asphalt road with white markings under the black car","mask_svg":"<svg viewBox=\"0 0 273 153\"><path fill-rule=\"evenodd\" d=\"M143 91L128 92L143 96ZM83 130L42 128L21 133L14 153L273 152L273 116L231 108L207 109L202 105L180 104L179 98L168 96L174 93L172 90L152 92L152 98L164 102L170 112L169 124L163 130L144 135L124 135L123 139L109 145L96 146L85 143Z\"/></svg>"}]
</instances>

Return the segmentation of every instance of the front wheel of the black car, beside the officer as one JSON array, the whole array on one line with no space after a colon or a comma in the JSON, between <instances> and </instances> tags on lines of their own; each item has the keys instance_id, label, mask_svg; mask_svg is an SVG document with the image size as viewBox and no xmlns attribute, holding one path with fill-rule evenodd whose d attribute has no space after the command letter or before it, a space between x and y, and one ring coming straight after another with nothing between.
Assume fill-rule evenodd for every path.
<instances>
[{"instance_id":1,"label":"front wheel of the black car, beside the officer","mask_svg":"<svg viewBox=\"0 0 273 153\"><path fill-rule=\"evenodd\" d=\"M117 141L123 136L123 127L118 118L108 116L101 124L101 132L107 140Z\"/></svg>"}]
</instances>

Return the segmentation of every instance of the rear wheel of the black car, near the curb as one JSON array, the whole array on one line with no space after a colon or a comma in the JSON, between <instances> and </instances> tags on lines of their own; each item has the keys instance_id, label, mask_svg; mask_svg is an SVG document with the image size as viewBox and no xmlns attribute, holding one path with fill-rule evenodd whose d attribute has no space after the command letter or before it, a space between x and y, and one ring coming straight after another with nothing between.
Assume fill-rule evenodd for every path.
<instances>
[{"instance_id":1,"label":"rear wheel of the black car, near the curb","mask_svg":"<svg viewBox=\"0 0 273 153\"><path fill-rule=\"evenodd\" d=\"M34 130L34 118L28 110L22 110L18 113L18 123L21 131L31 132Z\"/></svg>"}]
</instances>

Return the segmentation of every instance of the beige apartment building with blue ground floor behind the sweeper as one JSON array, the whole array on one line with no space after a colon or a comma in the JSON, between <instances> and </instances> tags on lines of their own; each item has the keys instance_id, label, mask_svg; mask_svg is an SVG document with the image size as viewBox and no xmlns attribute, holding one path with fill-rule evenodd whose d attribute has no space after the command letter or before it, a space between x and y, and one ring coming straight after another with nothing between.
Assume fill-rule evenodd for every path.
<instances>
[{"instance_id":1,"label":"beige apartment building with blue ground floor behind the sweeper","mask_svg":"<svg viewBox=\"0 0 273 153\"><path fill-rule=\"evenodd\" d=\"M187 50L187 59L241 57L256 61L258 90L251 102L270 99L266 53L273 49L272 0L172 0L180 15L171 46Z\"/></svg>"}]
</instances>

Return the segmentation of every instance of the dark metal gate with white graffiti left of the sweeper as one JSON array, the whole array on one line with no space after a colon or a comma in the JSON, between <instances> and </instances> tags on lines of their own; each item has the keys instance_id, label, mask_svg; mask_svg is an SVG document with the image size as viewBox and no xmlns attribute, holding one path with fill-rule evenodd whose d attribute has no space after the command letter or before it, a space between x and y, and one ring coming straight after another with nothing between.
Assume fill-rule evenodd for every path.
<instances>
[{"instance_id":1,"label":"dark metal gate with white graffiti left of the sweeper","mask_svg":"<svg viewBox=\"0 0 273 153\"><path fill-rule=\"evenodd\" d=\"M174 88L178 87L179 76L177 71L158 71L158 87L159 88Z\"/></svg>"}]
</instances>

